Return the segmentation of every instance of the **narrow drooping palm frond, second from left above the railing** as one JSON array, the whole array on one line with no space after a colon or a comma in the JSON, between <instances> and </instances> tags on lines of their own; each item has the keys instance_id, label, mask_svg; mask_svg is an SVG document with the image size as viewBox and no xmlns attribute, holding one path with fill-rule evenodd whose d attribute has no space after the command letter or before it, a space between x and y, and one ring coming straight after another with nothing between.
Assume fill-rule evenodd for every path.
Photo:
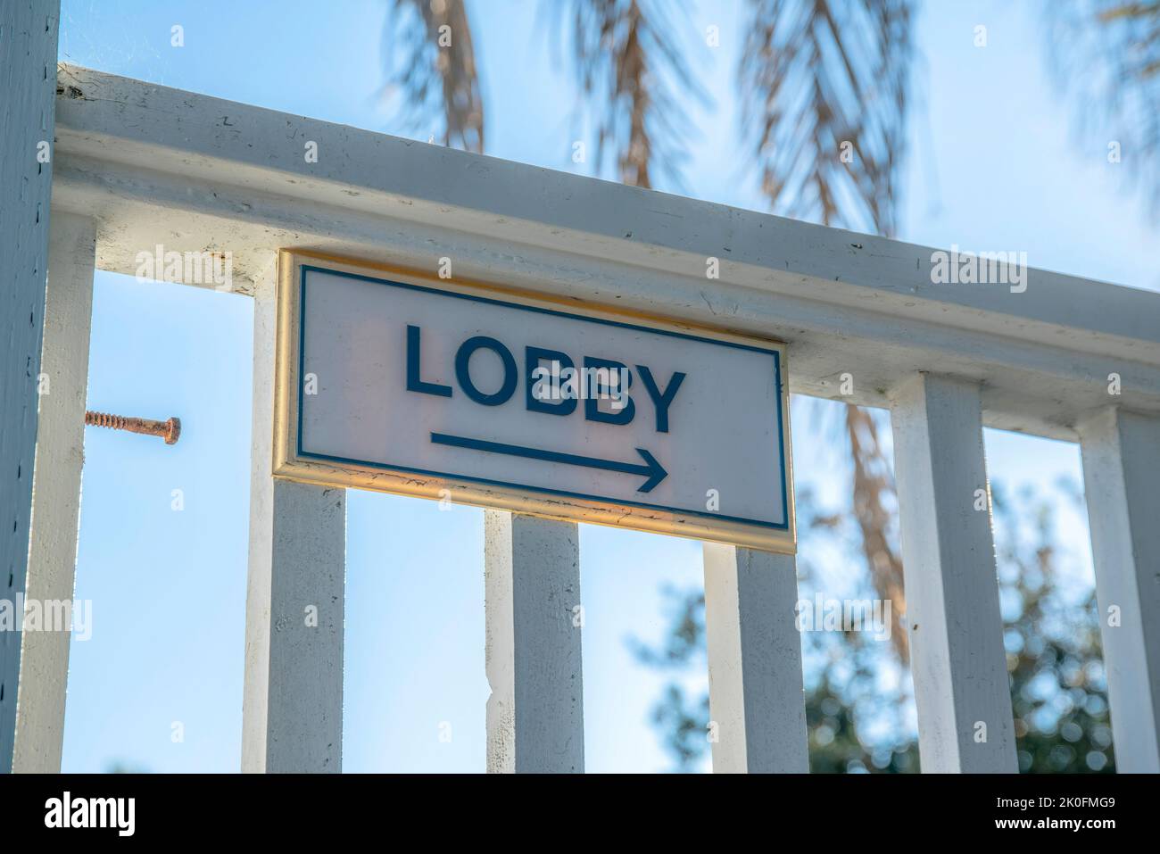
<instances>
[{"instance_id":1,"label":"narrow drooping palm frond, second from left above the railing","mask_svg":"<svg viewBox=\"0 0 1160 854\"><path fill-rule=\"evenodd\" d=\"M596 171L614 151L621 181L652 187L662 174L681 187L690 123L681 99L708 101L672 35L668 0L546 0L568 9L572 61L596 135ZM558 26L549 28L559 31Z\"/></svg>"}]
</instances>

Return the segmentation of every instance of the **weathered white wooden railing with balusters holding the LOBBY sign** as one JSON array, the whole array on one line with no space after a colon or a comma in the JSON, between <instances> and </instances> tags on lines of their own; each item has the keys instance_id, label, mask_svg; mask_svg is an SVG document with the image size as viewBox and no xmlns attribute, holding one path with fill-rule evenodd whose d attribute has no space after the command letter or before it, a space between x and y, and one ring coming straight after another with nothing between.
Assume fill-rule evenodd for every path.
<instances>
[{"instance_id":1,"label":"weathered white wooden railing with balusters holding the LOBBY sign","mask_svg":"<svg viewBox=\"0 0 1160 854\"><path fill-rule=\"evenodd\" d=\"M53 389L72 385L42 403L38 432L35 390L3 389L6 441L37 448L27 589L72 588L93 269L133 274L158 244L231 252L232 289L255 301L244 770L341 769L345 495L269 473L281 247L419 269L451 256L477 281L778 338L791 391L889 407L928 772L1016 770L991 515L976 509L983 427L1079 441L1117 767L1160 770L1160 295L1035 269L1023 292L934 284L920 246L84 68L63 67L58 89L43 353ZM35 281L17 284L39 317ZM3 477L7 520L27 482ZM485 564L488 769L582 770L580 629L548 606L579 596L575 524L488 511ZM793 557L706 544L705 598L715 769L806 770ZM284 618L331 601L319 629ZM24 634L19 709L5 656L0 761L14 738L17 770L56 770L67 638Z\"/></svg>"}]
</instances>

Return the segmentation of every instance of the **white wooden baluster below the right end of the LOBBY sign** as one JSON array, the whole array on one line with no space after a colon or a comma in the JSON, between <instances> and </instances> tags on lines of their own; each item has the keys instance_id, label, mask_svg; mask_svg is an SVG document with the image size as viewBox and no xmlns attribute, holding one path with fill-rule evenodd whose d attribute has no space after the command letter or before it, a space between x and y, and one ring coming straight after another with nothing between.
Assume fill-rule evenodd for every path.
<instances>
[{"instance_id":1,"label":"white wooden baluster below the right end of the LOBBY sign","mask_svg":"<svg viewBox=\"0 0 1160 854\"><path fill-rule=\"evenodd\" d=\"M715 774L810 770L792 555L704 543Z\"/></svg>"}]
</instances>

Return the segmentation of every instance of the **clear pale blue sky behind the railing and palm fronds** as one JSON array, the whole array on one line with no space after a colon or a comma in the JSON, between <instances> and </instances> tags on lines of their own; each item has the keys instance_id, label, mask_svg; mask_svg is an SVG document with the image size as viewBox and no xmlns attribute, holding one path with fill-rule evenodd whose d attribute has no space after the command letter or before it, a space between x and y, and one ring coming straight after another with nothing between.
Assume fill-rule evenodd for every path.
<instances>
[{"instance_id":1,"label":"clear pale blue sky behind the railing and palm fronds","mask_svg":"<svg viewBox=\"0 0 1160 854\"><path fill-rule=\"evenodd\" d=\"M764 209L747 173L732 96L737 2L699 3L686 41L716 99L696 125L687 194ZM487 153L571 162L573 88L553 64L531 0L470 5L487 109ZM928 3L919 16L921 92L899 237L934 246L1022 249L1035 267L1160 288L1155 245L1125 162L1076 138L1045 73L1034 3ZM399 132L384 75L385 3L64 0L60 57L234 101ZM485 14L486 13L486 14ZM697 35L720 27L722 46ZM988 44L973 46L976 24ZM184 46L169 44L184 28ZM433 128L432 132L437 129ZM414 133L426 138L427 133ZM1130 178L1130 173L1129 173ZM89 428L77 595L93 637L72 645L65 770L235 770L241 733L249 482L251 305L242 297L99 273L89 408L180 415L181 442ZM162 357L164 356L164 357ZM842 506L844 446L819 427L826 405L795 401L800 485ZM992 479L1079 483L1074 446L987 432ZM184 509L172 509L172 492ZM1061 508L1060 536L1090 584L1086 519ZM350 493L347 558L347 770L483 770L483 514ZM803 548L812 548L804 537ZM659 640L661 586L699 584L699 544L581 530L589 770L669 767L648 724L662 678L626 638ZM693 685L703 685L701 676ZM180 722L184 740L171 738ZM451 724L450 743L440 725Z\"/></svg>"}]
</instances>

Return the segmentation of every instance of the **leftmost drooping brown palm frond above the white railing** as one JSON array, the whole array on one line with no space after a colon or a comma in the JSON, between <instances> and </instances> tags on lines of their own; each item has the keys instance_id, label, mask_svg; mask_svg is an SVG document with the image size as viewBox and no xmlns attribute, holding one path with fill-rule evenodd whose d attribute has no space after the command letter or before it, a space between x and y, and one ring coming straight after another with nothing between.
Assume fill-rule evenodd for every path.
<instances>
[{"instance_id":1,"label":"leftmost drooping brown palm frond above the white railing","mask_svg":"<svg viewBox=\"0 0 1160 854\"><path fill-rule=\"evenodd\" d=\"M387 87L411 129L443 124L443 144L484 150L484 99L463 0L391 0L383 30Z\"/></svg>"}]
</instances>

